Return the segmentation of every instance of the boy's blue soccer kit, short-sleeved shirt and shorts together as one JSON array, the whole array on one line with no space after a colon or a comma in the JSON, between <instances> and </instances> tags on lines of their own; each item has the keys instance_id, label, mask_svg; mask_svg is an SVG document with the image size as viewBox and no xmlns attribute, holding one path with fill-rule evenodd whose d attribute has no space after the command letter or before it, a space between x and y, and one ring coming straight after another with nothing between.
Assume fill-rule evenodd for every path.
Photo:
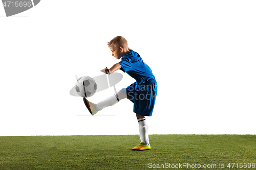
<instances>
[{"instance_id":1,"label":"boy's blue soccer kit, short-sleeved shirt and shorts together","mask_svg":"<svg viewBox=\"0 0 256 170\"><path fill-rule=\"evenodd\" d=\"M120 69L136 80L122 89L127 98L134 103L134 112L142 116L151 116L157 95L157 82L150 67L140 55L132 50L122 57Z\"/></svg>"}]
</instances>

